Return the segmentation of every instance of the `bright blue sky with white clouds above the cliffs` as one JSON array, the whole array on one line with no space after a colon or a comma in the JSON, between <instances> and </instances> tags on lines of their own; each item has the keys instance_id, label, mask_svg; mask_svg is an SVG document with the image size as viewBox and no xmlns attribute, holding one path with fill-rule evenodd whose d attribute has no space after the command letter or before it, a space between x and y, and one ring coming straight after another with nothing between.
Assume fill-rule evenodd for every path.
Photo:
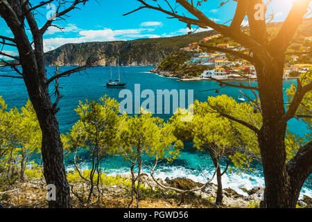
<instances>
[{"instance_id":1,"label":"bright blue sky with white clouds above the cliffs","mask_svg":"<svg viewBox=\"0 0 312 222\"><path fill-rule=\"evenodd\" d=\"M41 0L40 0L41 1ZM34 5L40 1L31 1ZM270 10L275 14L274 22L282 21L292 6L293 0L273 0ZM149 0L150 3L155 1ZM164 2L164 1L158 1ZM169 1L175 6L175 1ZM195 2L195 1L194 1ZM223 1L210 0L200 6L200 10L210 19L223 24L232 19L236 3L229 1L225 6L218 8ZM58 1L55 1L57 4ZM177 19L167 19L162 12L143 9L131 15L123 16L141 6L137 0L90 0L81 10L69 12L66 21L55 21L64 29L51 27L44 35L44 50L50 51L67 43L95 42L95 41L114 41L114 40L133 40L143 37L169 37L173 35L183 35L189 30L186 24L177 21ZM36 15L40 26L46 22L46 15L53 8L42 8ZM182 7L178 7L180 12ZM190 16L189 14L186 14ZM245 24L248 24L246 21ZM196 28L195 26L193 28ZM200 28L198 31L205 31ZM0 35L12 36L10 29L0 18ZM29 35L31 36L31 35ZM4 49L12 54L17 54L15 49L6 47Z\"/></svg>"}]
</instances>

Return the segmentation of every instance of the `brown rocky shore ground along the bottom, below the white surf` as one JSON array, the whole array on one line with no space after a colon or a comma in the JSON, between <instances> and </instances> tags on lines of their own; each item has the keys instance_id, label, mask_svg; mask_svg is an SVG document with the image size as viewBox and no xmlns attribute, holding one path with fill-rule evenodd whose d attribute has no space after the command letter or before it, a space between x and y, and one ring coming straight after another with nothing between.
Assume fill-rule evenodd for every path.
<instances>
[{"instance_id":1,"label":"brown rocky shore ground along the bottom, below the white surf","mask_svg":"<svg viewBox=\"0 0 312 222\"><path fill-rule=\"evenodd\" d=\"M123 178L130 181L131 176L129 174L116 176L116 178ZM177 189L189 190L195 187L202 187L202 183L194 182L188 178L166 178L165 181L158 178L157 181L163 185L175 187ZM146 173L141 174L141 182L146 187L145 192L149 193L144 198L141 198L140 207L177 207L177 208L250 208L258 207L259 202L263 196L263 187L254 187L251 190L241 188L245 191L245 195L238 194L234 189L223 189L223 203L222 205L214 204L216 197L217 186L214 183L209 183L207 187L198 191L187 194L186 200L180 205L180 194L173 194L172 191L159 189L157 183ZM80 195L84 195L86 184L76 182L71 184L71 189L76 192L84 190ZM130 199L129 189L122 183L117 185L102 185L103 189L103 204L101 206L93 203L80 203L78 199L72 194L73 207L128 207L128 201ZM5 189L4 189L5 190ZM160 195L159 190L162 190ZM96 195L94 195L96 199ZM3 191L1 187L0 192L0 207L8 208L45 208L47 207L45 182L42 178L26 178L25 182L19 182L15 187L10 187L8 191ZM298 201L299 207L312 207L312 198L304 196L302 200Z\"/></svg>"}]
</instances>

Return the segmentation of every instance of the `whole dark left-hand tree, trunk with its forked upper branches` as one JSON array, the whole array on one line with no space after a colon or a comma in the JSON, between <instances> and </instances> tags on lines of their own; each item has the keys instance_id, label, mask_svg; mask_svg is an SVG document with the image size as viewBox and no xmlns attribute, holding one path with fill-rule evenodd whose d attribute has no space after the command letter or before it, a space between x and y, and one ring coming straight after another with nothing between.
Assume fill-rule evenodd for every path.
<instances>
[{"instance_id":1,"label":"whole dark left-hand tree, trunk with its forked upper branches","mask_svg":"<svg viewBox=\"0 0 312 222\"><path fill-rule=\"evenodd\" d=\"M40 3L38 6L44 6L47 3ZM63 3L60 2L59 6ZM85 3L85 1L74 1L69 8L56 13L56 17L65 15L76 8L75 6L79 3ZM0 1L0 15L14 35L14 39L9 38L9 40L15 43L14 46L19 53L19 57L15 59L19 60L21 65L21 78L24 78L42 130L44 178L46 184L53 184L56 188L56 200L49 201L49 207L71 207L69 184L63 162L63 146L56 118L57 103L53 104L51 101L49 82L46 79L43 35L51 26L53 19L49 19L42 28L39 28L33 10L29 6L31 4L28 1ZM31 31L32 42L26 35L25 20Z\"/></svg>"}]
</instances>

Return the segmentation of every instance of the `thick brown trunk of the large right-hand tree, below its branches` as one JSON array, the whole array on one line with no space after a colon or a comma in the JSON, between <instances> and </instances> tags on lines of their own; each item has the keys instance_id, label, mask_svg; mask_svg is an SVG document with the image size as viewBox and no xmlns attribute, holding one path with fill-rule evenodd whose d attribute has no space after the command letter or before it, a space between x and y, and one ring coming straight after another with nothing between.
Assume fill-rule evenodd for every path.
<instances>
[{"instance_id":1,"label":"thick brown trunk of the large right-hand tree, below its branches","mask_svg":"<svg viewBox=\"0 0 312 222\"><path fill-rule=\"evenodd\" d=\"M294 207L288 200L290 183L286 171L286 121L283 96L283 65L268 62L258 68L263 125L258 135L266 189L261 207Z\"/></svg>"}]
</instances>

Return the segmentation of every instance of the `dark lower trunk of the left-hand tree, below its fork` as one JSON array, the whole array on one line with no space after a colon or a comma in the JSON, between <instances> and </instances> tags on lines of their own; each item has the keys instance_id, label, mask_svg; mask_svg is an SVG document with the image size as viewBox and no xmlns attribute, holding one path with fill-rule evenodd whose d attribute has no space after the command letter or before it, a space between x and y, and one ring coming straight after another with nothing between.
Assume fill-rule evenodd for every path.
<instances>
[{"instance_id":1,"label":"dark lower trunk of the left-hand tree, below its fork","mask_svg":"<svg viewBox=\"0 0 312 222\"><path fill-rule=\"evenodd\" d=\"M49 201L49 207L69 208L71 207L70 191L63 162L63 144L60 139L58 119L51 102L48 86L43 83L45 79L38 77L44 76L43 78L45 78L45 69L38 72L35 66L29 65L27 60L22 60L21 63L28 95L42 130L44 178L47 185L53 184L56 188L56 200ZM37 79L34 80L34 76L37 76Z\"/></svg>"}]
</instances>

